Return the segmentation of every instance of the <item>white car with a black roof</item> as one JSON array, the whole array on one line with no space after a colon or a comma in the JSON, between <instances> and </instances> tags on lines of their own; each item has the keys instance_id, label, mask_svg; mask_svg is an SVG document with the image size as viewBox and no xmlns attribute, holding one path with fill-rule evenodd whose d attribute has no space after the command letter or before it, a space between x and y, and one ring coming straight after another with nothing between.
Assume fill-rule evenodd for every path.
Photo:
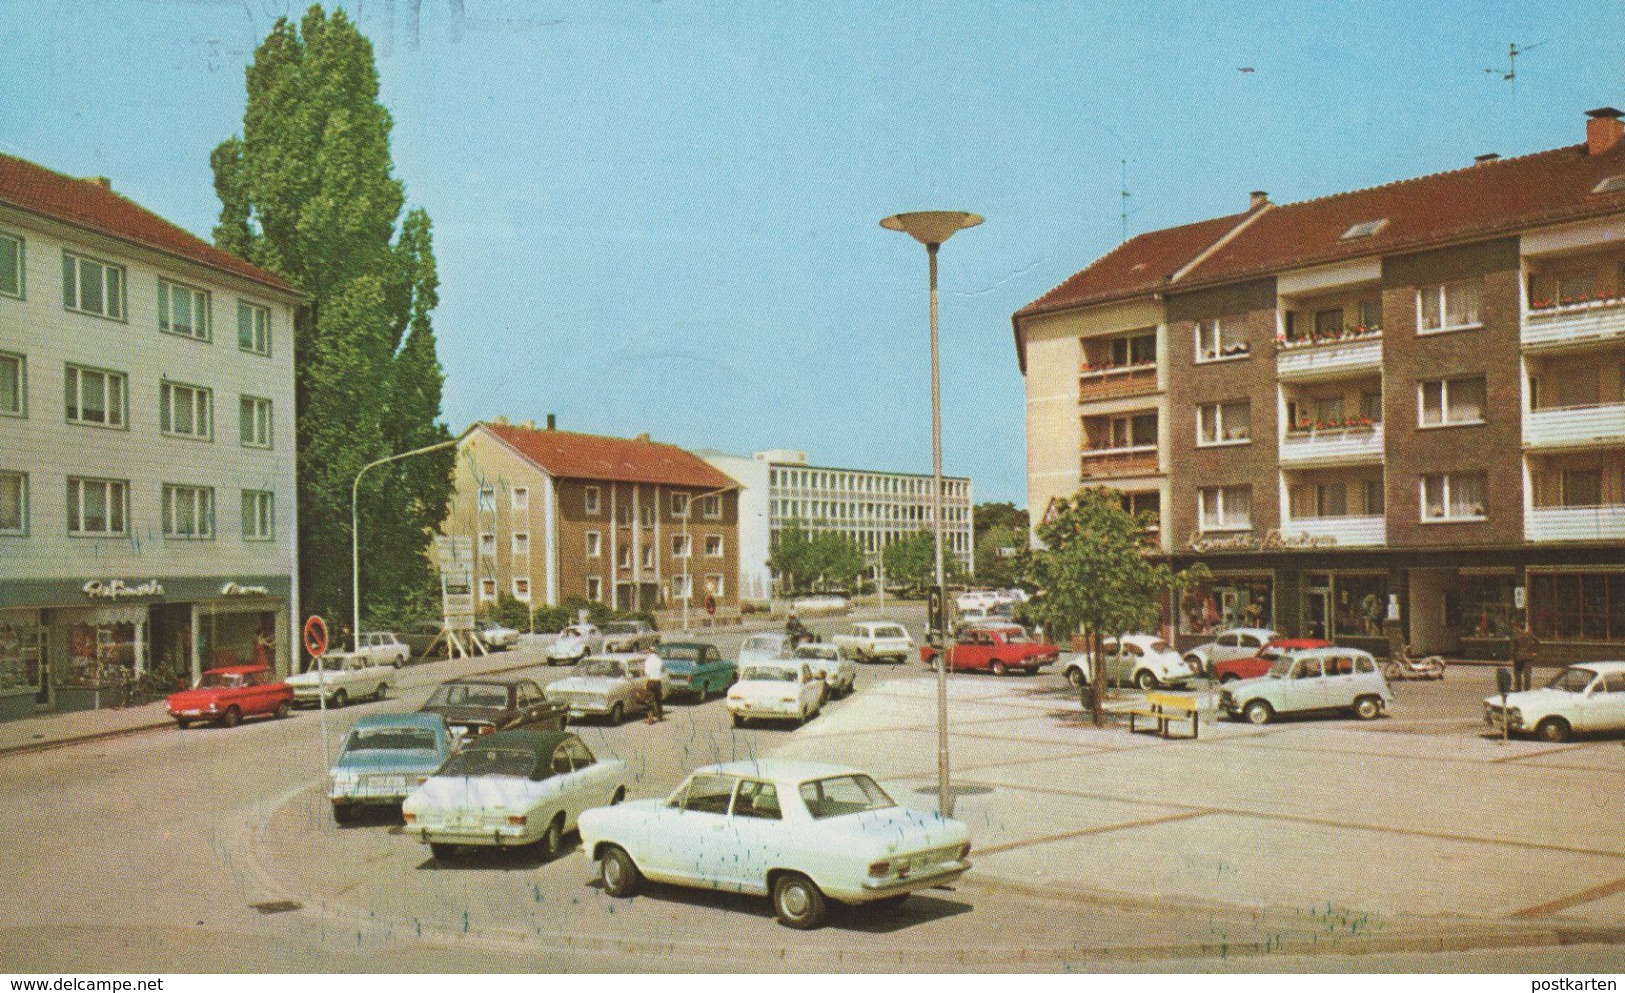
<instances>
[{"instance_id":1,"label":"white car with a black roof","mask_svg":"<svg viewBox=\"0 0 1625 993\"><path fill-rule=\"evenodd\" d=\"M512 728L452 756L401 817L439 860L462 845L536 845L556 858L582 811L621 803L626 790L626 762L598 761L575 735Z\"/></svg>"}]
</instances>

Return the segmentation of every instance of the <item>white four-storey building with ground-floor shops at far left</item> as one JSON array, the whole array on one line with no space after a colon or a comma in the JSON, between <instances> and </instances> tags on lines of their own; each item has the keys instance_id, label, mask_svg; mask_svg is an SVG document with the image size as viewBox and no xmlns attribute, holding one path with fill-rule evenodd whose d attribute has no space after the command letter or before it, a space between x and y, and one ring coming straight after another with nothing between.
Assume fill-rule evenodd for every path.
<instances>
[{"instance_id":1,"label":"white four-storey building with ground-floor shops at far left","mask_svg":"<svg viewBox=\"0 0 1625 993\"><path fill-rule=\"evenodd\" d=\"M0 717L297 645L301 296L0 154Z\"/></svg>"}]
</instances>

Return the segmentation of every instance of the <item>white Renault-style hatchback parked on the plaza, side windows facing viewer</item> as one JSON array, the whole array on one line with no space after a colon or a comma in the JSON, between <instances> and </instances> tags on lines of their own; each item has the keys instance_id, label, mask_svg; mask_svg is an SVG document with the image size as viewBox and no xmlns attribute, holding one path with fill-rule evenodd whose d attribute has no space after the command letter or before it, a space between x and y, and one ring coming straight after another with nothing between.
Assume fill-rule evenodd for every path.
<instances>
[{"instance_id":1,"label":"white Renault-style hatchback parked on the plaza, side windows facing viewer","mask_svg":"<svg viewBox=\"0 0 1625 993\"><path fill-rule=\"evenodd\" d=\"M1225 683L1219 709L1251 723L1269 723L1280 713L1354 710L1360 720L1378 717L1394 702L1394 691L1370 652L1358 648L1305 648L1276 660L1269 674Z\"/></svg>"}]
</instances>

